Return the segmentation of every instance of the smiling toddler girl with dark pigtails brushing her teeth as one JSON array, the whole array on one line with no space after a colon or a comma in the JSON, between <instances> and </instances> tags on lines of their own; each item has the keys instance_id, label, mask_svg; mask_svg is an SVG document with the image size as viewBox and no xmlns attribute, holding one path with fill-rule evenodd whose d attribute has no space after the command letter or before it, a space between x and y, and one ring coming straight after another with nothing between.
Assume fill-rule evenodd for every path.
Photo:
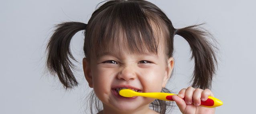
<instances>
[{"instance_id":1,"label":"smiling toddler girl with dark pigtails brushing her teeth","mask_svg":"<svg viewBox=\"0 0 256 114\"><path fill-rule=\"evenodd\" d=\"M93 88L89 102L102 102L96 104L97 113L166 114L171 101L125 98L118 92L128 88L171 93L165 86L174 67L173 38L177 34L189 43L195 70L193 84L172 98L183 114L214 114L215 108L199 106L201 100L213 96L209 89L217 60L208 33L198 26L175 29L165 13L148 1L108 0L87 24L63 22L56 26L47 44L47 70L57 74L66 89L77 86L69 44L75 33L85 30L83 71Z\"/></svg>"}]
</instances>

